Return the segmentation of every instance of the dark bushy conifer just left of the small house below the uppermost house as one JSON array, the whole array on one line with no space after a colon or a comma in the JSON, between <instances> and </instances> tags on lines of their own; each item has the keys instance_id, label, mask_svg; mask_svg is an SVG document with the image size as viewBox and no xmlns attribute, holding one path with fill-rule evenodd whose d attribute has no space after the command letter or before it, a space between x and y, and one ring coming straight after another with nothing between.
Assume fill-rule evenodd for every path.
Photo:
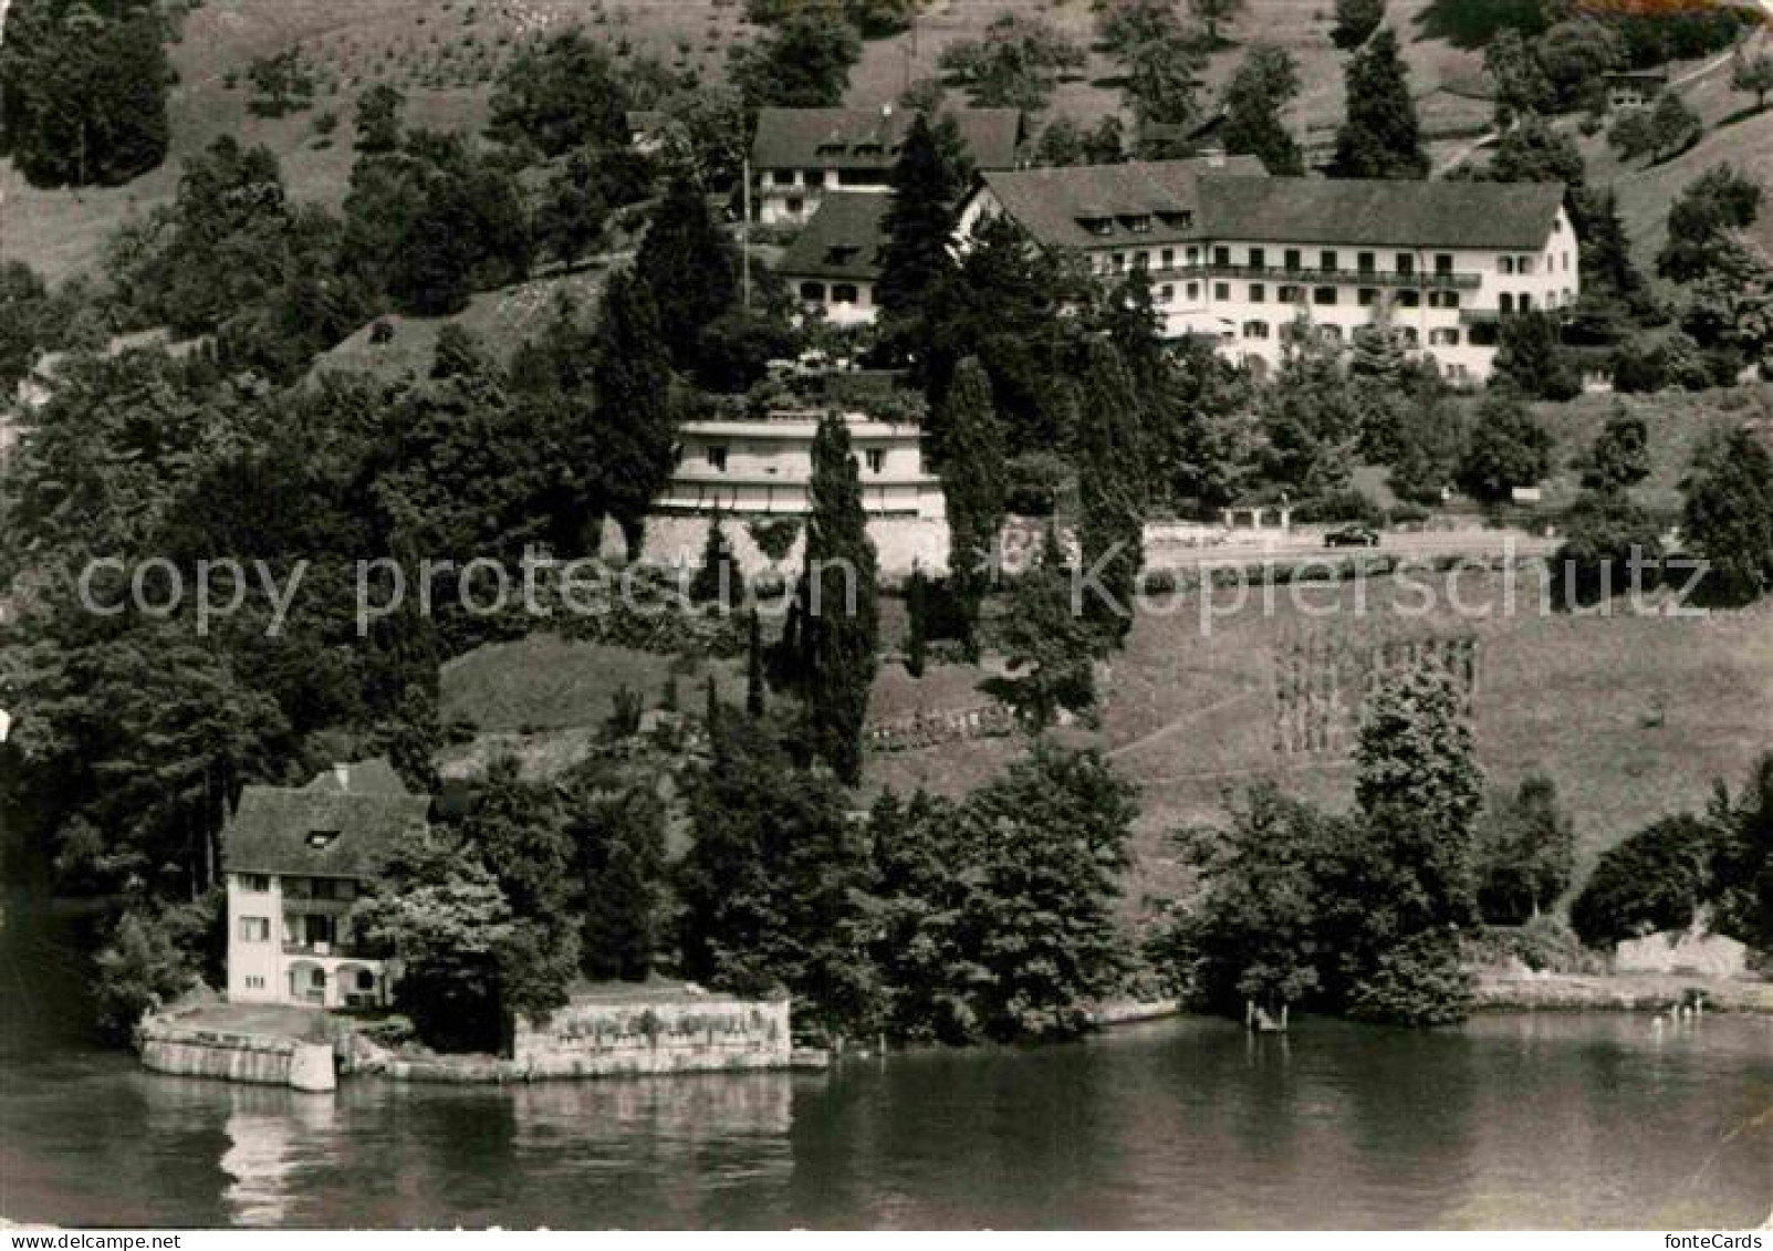
<instances>
[{"instance_id":1,"label":"dark bushy conifer just left of the small house below the uppermost house","mask_svg":"<svg viewBox=\"0 0 1773 1251\"><path fill-rule=\"evenodd\" d=\"M695 179L679 174L665 190L635 255L635 273L652 292L672 360L690 369L702 330L732 307L739 291L739 252Z\"/></svg>"}]
</instances>

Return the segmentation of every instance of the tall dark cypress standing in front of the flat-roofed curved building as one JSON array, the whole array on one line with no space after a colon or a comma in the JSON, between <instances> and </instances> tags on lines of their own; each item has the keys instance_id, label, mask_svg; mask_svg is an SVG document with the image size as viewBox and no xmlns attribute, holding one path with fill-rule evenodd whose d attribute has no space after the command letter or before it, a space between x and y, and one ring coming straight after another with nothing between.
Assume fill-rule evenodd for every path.
<instances>
[{"instance_id":1,"label":"tall dark cypress standing in front of the flat-roofed curved building","mask_svg":"<svg viewBox=\"0 0 1773 1251\"><path fill-rule=\"evenodd\" d=\"M862 725L874 684L879 606L874 544L849 425L826 413L812 439L812 512L796 608L807 755L847 785L862 780Z\"/></svg>"}]
</instances>

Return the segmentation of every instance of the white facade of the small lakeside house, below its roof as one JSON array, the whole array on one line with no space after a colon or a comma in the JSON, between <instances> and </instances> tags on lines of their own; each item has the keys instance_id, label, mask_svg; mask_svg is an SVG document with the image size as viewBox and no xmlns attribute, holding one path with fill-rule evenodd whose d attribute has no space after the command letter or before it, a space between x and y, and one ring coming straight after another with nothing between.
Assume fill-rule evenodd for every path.
<instances>
[{"instance_id":1,"label":"white facade of the small lakeside house, below its roof","mask_svg":"<svg viewBox=\"0 0 1773 1251\"><path fill-rule=\"evenodd\" d=\"M227 998L323 1008L387 1006L392 971L351 932L351 879L229 874Z\"/></svg>"}]
</instances>

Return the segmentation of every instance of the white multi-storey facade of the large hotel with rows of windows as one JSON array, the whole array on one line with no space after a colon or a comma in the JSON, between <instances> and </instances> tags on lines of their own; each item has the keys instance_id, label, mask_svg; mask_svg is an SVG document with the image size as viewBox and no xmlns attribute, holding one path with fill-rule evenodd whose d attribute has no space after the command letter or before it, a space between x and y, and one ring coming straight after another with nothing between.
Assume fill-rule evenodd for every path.
<instances>
[{"instance_id":1,"label":"white multi-storey facade of the large hotel with rows of windows","mask_svg":"<svg viewBox=\"0 0 1773 1251\"><path fill-rule=\"evenodd\" d=\"M961 237L1000 211L989 190L979 191L963 211ZM1582 287L1564 209L1544 243L1525 252L1238 237L1140 246L1119 237L1085 253L1106 278L1145 269L1168 337L1209 337L1225 356L1259 370L1280 363L1301 314L1344 340L1383 315L1449 379L1482 381L1495 365L1500 317L1569 308Z\"/></svg>"}]
</instances>

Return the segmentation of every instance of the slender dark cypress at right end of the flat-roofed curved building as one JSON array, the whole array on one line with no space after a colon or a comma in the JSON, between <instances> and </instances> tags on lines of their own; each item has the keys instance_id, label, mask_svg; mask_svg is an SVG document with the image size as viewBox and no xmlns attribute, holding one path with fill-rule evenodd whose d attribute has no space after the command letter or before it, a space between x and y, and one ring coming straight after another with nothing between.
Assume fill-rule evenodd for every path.
<instances>
[{"instance_id":1,"label":"slender dark cypress at right end of the flat-roofed curved building","mask_svg":"<svg viewBox=\"0 0 1773 1251\"><path fill-rule=\"evenodd\" d=\"M975 356L954 370L943 397L941 429L949 459L941 489L949 501L949 585L965 624L968 659L979 659L979 606L991 581L995 544L1007 510L1004 423L991 399L991 381Z\"/></svg>"}]
</instances>

